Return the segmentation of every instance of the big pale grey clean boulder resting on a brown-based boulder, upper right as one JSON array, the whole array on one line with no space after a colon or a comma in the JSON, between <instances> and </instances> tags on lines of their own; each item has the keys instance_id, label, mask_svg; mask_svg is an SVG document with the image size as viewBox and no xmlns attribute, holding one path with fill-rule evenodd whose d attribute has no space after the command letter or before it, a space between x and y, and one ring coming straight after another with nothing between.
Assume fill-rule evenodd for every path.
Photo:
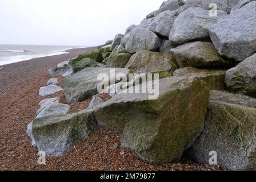
<instances>
[{"instance_id":1,"label":"big pale grey clean boulder resting on a brown-based boulder, upper right","mask_svg":"<svg viewBox=\"0 0 256 182\"><path fill-rule=\"evenodd\" d=\"M224 11L218 11L217 16L210 16L209 10L193 7L183 11L175 19L170 30L169 40L173 44L183 44L195 39L209 37L211 28L219 18L226 16Z\"/></svg>"}]
</instances>

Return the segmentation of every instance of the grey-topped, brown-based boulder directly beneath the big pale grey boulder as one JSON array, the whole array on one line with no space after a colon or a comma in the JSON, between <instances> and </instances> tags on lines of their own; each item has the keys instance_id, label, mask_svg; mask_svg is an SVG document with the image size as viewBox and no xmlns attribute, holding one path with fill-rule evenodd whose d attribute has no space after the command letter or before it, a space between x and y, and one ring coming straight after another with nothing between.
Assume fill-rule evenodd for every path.
<instances>
[{"instance_id":1,"label":"grey-topped, brown-based boulder directly beneath the big pale grey boulder","mask_svg":"<svg viewBox=\"0 0 256 182\"><path fill-rule=\"evenodd\" d=\"M191 42L171 49L179 67L219 67L229 65L209 42Z\"/></svg>"}]
</instances>

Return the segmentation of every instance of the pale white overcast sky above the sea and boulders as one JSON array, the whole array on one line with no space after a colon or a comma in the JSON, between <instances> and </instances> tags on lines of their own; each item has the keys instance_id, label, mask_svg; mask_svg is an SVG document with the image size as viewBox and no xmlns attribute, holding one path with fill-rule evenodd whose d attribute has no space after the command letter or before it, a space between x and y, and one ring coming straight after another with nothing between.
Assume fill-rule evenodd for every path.
<instances>
[{"instance_id":1,"label":"pale white overcast sky above the sea and boulders","mask_svg":"<svg viewBox=\"0 0 256 182\"><path fill-rule=\"evenodd\" d=\"M97 46L163 0L1 0L0 44Z\"/></svg>"}]
</instances>

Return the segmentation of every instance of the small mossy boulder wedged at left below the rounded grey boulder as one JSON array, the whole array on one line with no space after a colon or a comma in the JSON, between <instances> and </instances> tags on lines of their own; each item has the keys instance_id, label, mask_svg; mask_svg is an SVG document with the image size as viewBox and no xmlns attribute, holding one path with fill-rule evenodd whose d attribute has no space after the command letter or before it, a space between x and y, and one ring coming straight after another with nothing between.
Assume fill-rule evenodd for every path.
<instances>
[{"instance_id":1,"label":"small mossy boulder wedged at left below the rounded grey boulder","mask_svg":"<svg viewBox=\"0 0 256 182\"><path fill-rule=\"evenodd\" d=\"M130 60L131 54L125 51L117 51L110 54L107 59L107 66L113 68L125 68L125 65Z\"/></svg>"}]
</instances>

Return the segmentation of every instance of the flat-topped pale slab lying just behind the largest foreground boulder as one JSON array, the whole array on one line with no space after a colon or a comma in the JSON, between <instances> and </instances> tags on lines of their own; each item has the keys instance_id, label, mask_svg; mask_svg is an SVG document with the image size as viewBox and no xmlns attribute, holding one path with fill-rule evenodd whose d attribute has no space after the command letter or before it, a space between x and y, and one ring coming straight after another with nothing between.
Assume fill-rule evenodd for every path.
<instances>
[{"instance_id":1,"label":"flat-topped pale slab lying just behind the largest foreground boulder","mask_svg":"<svg viewBox=\"0 0 256 182\"><path fill-rule=\"evenodd\" d=\"M102 80L98 80L98 76L101 73L106 73L110 78L109 81L117 82L114 77L110 77L110 69L111 68L85 68L82 71L65 78L63 80L63 90L67 102L73 103L83 101L97 94L97 87L102 82ZM112 69L115 69L115 75L118 73L128 75L130 72L129 69L125 68Z\"/></svg>"}]
</instances>

